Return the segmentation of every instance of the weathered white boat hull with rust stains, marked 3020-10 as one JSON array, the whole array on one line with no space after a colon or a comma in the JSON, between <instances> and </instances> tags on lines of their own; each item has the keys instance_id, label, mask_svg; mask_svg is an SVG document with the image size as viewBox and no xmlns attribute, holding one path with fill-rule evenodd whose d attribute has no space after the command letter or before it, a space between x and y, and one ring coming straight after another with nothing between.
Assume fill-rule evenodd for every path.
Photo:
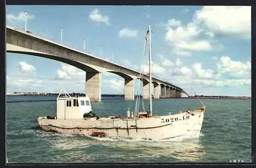
<instances>
[{"instance_id":1,"label":"weathered white boat hull with rust stains, marked 3020-10","mask_svg":"<svg viewBox=\"0 0 256 168\"><path fill-rule=\"evenodd\" d=\"M109 138L168 139L183 135L199 137L204 111L195 110L152 118L86 118L77 120L39 117L41 129L49 132L70 133Z\"/></svg>"}]
</instances>

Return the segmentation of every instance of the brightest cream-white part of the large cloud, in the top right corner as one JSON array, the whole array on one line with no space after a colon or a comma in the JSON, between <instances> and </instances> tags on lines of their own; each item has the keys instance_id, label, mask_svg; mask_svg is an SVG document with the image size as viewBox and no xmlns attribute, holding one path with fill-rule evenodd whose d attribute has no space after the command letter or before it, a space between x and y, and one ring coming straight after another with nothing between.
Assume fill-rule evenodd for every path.
<instances>
[{"instance_id":1,"label":"brightest cream-white part of the large cloud, in the top right corner","mask_svg":"<svg viewBox=\"0 0 256 168\"><path fill-rule=\"evenodd\" d=\"M219 36L251 37L250 6L205 6L195 12L194 22Z\"/></svg>"}]
</instances>

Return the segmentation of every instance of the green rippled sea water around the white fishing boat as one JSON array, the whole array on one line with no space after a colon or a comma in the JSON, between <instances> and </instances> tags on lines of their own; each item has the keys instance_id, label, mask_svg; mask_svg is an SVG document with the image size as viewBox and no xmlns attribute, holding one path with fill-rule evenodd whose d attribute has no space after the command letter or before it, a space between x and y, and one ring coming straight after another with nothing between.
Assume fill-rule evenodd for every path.
<instances>
[{"instance_id":1,"label":"green rippled sea water around the white fishing boat","mask_svg":"<svg viewBox=\"0 0 256 168\"><path fill-rule=\"evenodd\" d=\"M206 112L199 138L164 141L109 139L45 132L37 117L55 116L56 97L7 96L7 157L15 163L251 161L251 100L201 99ZM39 101L43 100L43 101ZM47 100L47 101L46 101ZM141 105L142 103L140 103ZM198 99L153 99L153 115L197 109ZM145 109L148 102L144 100ZM125 116L135 101L92 102L99 116ZM142 109L142 106L140 107Z\"/></svg>"}]
</instances>

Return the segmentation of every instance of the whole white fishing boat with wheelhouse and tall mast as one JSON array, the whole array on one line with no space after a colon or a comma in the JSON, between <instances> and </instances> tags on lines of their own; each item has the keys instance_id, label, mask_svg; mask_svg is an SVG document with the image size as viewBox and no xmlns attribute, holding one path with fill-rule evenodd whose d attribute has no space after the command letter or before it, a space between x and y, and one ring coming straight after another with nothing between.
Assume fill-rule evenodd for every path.
<instances>
[{"instance_id":1,"label":"whole white fishing boat with wheelhouse and tall mast","mask_svg":"<svg viewBox=\"0 0 256 168\"><path fill-rule=\"evenodd\" d=\"M152 82L151 32L149 25L145 40L149 43L150 83ZM61 96L62 92L63 96ZM151 87L150 95L152 95ZM179 111L176 114L153 115L152 96L150 96L149 110L144 108L139 110L136 101L135 110L130 112L127 109L127 116L100 117L92 112L89 97L71 97L65 89L62 89L57 97L56 116L38 117L37 121L41 129L57 133L109 138L170 139L186 135L199 137L204 113L203 105L199 109Z\"/></svg>"}]
</instances>

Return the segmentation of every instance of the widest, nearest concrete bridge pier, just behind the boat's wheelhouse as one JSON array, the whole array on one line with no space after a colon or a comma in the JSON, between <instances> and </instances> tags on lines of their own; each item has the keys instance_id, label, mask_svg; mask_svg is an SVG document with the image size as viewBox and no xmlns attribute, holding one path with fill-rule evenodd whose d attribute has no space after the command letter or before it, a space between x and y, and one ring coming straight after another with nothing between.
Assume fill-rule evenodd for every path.
<instances>
[{"instance_id":1,"label":"widest, nearest concrete bridge pier, just behind the boat's wheelhouse","mask_svg":"<svg viewBox=\"0 0 256 168\"><path fill-rule=\"evenodd\" d=\"M86 96L91 101L101 101L101 73L86 72Z\"/></svg>"}]
</instances>

